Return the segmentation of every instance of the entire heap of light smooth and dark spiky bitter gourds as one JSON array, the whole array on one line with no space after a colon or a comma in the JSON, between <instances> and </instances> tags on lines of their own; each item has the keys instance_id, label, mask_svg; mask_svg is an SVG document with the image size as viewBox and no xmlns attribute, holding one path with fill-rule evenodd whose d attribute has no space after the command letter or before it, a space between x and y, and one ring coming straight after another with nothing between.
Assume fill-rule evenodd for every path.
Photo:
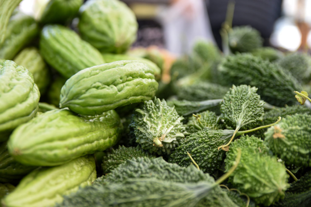
<instances>
[{"instance_id":1,"label":"entire heap of light smooth and dark spiky bitter gourds","mask_svg":"<svg viewBox=\"0 0 311 207\"><path fill-rule=\"evenodd\" d=\"M168 67L130 48L119 0L19 2L0 0L2 206L309 206L309 54L227 25L223 52Z\"/></svg>"}]
</instances>

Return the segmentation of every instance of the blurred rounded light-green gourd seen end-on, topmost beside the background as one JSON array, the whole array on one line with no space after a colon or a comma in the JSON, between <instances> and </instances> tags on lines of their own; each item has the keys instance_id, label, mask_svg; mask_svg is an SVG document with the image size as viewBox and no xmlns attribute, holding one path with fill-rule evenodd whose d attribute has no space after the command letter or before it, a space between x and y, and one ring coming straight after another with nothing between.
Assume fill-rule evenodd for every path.
<instances>
[{"instance_id":1,"label":"blurred rounded light-green gourd seen end-on, topmost beside the background","mask_svg":"<svg viewBox=\"0 0 311 207\"><path fill-rule=\"evenodd\" d=\"M137 20L124 2L89 0L79 12L82 39L101 52L123 53L136 40Z\"/></svg>"}]
</instances>

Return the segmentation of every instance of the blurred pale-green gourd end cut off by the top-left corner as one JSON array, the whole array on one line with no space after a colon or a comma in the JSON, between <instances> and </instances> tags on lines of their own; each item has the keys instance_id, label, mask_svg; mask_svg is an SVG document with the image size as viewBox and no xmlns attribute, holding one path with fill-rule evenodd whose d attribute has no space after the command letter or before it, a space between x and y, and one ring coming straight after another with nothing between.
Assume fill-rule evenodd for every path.
<instances>
[{"instance_id":1,"label":"blurred pale-green gourd end cut off by the top-left corner","mask_svg":"<svg viewBox=\"0 0 311 207\"><path fill-rule=\"evenodd\" d=\"M21 0L0 0L0 46L5 39L10 16L20 2Z\"/></svg>"}]
</instances>

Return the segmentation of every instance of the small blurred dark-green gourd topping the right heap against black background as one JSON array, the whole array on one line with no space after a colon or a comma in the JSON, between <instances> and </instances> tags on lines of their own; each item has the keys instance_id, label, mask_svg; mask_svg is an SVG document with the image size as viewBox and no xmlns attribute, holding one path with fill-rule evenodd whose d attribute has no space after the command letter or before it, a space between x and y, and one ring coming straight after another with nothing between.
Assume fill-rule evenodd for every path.
<instances>
[{"instance_id":1,"label":"small blurred dark-green gourd topping the right heap against black background","mask_svg":"<svg viewBox=\"0 0 311 207\"><path fill-rule=\"evenodd\" d=\"M250 26L233 27L229 33L229 47L235 52L250 52L262 47L263 39L259 31Z\"/></svg>"}]
</instances>

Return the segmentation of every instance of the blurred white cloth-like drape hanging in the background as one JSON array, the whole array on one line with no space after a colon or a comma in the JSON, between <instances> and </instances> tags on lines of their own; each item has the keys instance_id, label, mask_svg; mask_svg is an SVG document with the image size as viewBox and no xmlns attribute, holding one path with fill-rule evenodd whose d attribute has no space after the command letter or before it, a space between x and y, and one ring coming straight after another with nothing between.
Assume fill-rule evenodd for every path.
<instances>
[{"instance_id":1,"label":"blurred white cloth-like drape hanging in the background","mask_svg":"<svg viewBox=\"0 0 311 207\"><path fill-rule=\"evenodd\" d=\"M203 0L179 0L169 7L161 7L158 18L166 49L177 56L188 54L197 39L216 44Z\"/></svg>"}]
</instances>

